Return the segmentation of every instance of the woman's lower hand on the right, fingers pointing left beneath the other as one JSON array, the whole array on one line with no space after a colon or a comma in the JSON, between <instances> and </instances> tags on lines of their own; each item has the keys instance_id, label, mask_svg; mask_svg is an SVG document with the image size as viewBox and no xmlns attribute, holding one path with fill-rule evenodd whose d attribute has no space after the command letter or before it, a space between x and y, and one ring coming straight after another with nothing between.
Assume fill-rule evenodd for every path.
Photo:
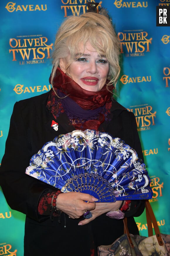
<instances>
[{"instance_id":1,"label":"woman's lower hand on the right, fingers pointing left beneath the other","mask_svg":"<svg viewBox=\"0 0 170 256\"><path fill-rule=\"evenodd\" d=\"M81 220L78 225L85 225L103 213L118 210L121 203L122 201L116 201L115 203L96 203L95 209L91 210L92 217L90 219Z\"/></svg>"}]
</instances>

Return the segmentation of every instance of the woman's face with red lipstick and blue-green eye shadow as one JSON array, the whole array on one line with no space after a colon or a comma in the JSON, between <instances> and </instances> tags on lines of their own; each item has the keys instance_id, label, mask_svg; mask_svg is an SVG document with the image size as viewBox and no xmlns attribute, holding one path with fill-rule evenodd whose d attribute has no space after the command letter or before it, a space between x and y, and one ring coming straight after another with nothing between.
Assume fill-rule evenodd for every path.
<instances>
[{"instance_id":1,"label":"woman's face with red lipstick and blue-green eye shadow","mask_svg":"<svg viewBox=\"0 0 170 256\"><path fill-rule=\"evenodd\" d=\"M75 60L67 68L69 59L70 54L67 58L60 59L60 68L64 73L68 72L81 88L95 92L103 88L109 72L109 63L105 56L98 55L89 42L86 43L85 50L83 45L80 45Z\"/></svg>"}]
</instances>

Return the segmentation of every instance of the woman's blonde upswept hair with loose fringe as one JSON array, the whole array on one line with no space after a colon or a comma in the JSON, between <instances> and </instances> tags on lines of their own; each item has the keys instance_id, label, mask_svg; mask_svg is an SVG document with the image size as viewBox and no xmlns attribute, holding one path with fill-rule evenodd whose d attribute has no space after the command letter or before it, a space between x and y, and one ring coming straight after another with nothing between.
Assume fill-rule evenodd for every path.
<instances>
[{"instance_id":1,"label":"woman's blonde upswept hair with loose fringe","mask_svg":"<svg viewBox=\"0 0 170 256\"><path fill-rule=\"evenodd\" d=\"M80 16L69 16L60 26L52 53L52 79L57 67L59 67L60 58L66 58L70 53L69 66L74 61L80 43L83 43L85 48L87 41L91 43L100 56L106 56L108 59L108 79L110 80L108 85L113 83L116 85L120 73L120 42L110 20L105 15L93 12Z\"/></svg>"}]
</instances>

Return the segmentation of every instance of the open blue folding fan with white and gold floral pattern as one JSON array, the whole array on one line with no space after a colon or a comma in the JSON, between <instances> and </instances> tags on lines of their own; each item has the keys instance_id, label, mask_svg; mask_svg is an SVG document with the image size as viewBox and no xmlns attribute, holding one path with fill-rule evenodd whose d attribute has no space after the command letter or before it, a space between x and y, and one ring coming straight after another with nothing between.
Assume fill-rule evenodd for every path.
<instances>
[{"instance_id":1,"label":"open blue folding fan with white and gold floral pattern","mask_svg":"<svg viewBox=\"0 0 170 256\"><path fill-rule=\"evenodd\" d=\"M88 193L98 202L152 198L150 178L135 150L96 130L75 130L45 143L26 174L62 192Z\"/></svg>"}]
</instances>

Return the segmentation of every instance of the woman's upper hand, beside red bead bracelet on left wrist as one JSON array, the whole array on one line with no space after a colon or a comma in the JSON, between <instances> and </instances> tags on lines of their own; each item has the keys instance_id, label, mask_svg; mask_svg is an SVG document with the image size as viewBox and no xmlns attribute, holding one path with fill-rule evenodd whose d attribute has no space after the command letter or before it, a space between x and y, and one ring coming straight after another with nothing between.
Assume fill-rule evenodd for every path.
<instances>
[{"instance_id":1,"label":"woman's upper hand, beside red bead bracelet on left wrist","mask_svg":"<svg viewBox=\"0 0 170 256\"><path fill-rule=\"evenodd\" d=\"M89 203L87 203L87 201ZM98 201L98 199L89 194L67 192L57 196L56 207L57 210L69 215L70 218L77 219L84 214L85 210L93 210L96 205L94 203L95 201Z\"/></svg>"}]
</instances>

